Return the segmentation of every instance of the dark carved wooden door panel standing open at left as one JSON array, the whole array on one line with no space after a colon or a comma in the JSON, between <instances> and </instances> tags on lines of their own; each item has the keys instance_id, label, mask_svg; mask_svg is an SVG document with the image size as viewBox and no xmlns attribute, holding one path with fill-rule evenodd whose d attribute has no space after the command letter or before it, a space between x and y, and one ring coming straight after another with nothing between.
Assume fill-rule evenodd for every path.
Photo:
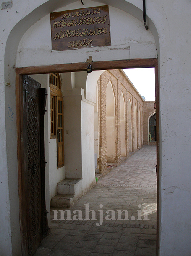
<instances>
[{"instance_id":1,"label":"dark carved wooden door panel standing open at left","mask_svg":"<svg viewBox=\"0 0 191 256\"><path fill-rule=\"evenodd\" d=\"M25 201L24 255L33 255L43 237L45 211L44 113L41 85L23 76L23 200ZM44 162L44 164L43 164ZM24 213L24 212L23 212Z\"/></svg>"}]
</instances>

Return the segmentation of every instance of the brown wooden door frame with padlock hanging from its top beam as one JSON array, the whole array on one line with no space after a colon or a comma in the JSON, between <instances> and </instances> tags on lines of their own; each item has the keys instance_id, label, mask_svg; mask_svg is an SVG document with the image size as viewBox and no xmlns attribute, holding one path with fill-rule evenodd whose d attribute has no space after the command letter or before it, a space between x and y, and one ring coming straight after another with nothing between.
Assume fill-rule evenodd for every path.
<instances>
[{"instance_id":1,"label":"brown wooden door frame with padlock hanging from its top beam","mask_svg":"<svg viewBox=\"0 0 191 256\"><path fill-rule=\"evenodd\" d=\"M156 126L157 126L157 255L159 249L159 74L158 59L130 59L118 61L97 61L91 63L70 63L56 64L48 66L31 66L16 68L16 117L17 117L17 154L18 154L18 190L19 190L19 215L21 225L21 245L24 249L25 225L22 219L24 213L24 197L22 197L22 179L23 168L23 75L49 74L87 71L88 64L91 64L94 70L125 69L125 68L155 68L155 95L156 95ZM24 255L24 254L23 254Z\"/></svg>"}]
</instances>

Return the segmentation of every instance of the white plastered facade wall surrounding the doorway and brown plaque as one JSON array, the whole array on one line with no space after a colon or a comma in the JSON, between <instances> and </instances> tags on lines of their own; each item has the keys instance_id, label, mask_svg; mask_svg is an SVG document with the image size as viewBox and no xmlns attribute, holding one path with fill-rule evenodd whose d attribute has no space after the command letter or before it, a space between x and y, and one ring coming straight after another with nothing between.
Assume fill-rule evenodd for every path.
<instances>
[{"instance_id":1,"label":"white plastered facade wall surrounding the doorway and brown plaque","mask_svg":"<svg viewBox=\"0 0 191 256\"><path fill-rule=\"evenodd\" d=\"M74 1L64 1L65 7L60 10L81 7L80 1L73 4L72 2ZM73 54L71 52L51 53L50 43L47 43L46 35L43 35L44 41L41 40L41 44L40 40L39 43L34 42L33 37L33 39L31 38L33 40L32 48L28 47L29 45L23 45L23 48L19 48L19 52L18 44L25 31L30 27L32 28L36 22L37 26L40 27L39 19L48 22L47 15L62 7L63 2L60 0L21 0L16 3L13 2L11 9L0 10L0 107L2 109L0 116L0 177L2 182L0 204L3 205L0 212L0 218L3 220L0 226L1 253L21 255L16 119L11 124L7 119L10 104L13 112L16 111L15 67L83 62L90 55L93 61L155 58L156 50L151 35L152 31L160 58L159 254L160 256L188 256L191 251L189 241L191 237L189 224L191 219L189 203L191 187L190 1L147 0L148 31L144 30L142 23L142 1L100 0L96 3L84 0L83 2L86 4L85 7L101 4L110 5L111 47L82 49ZM127 26L126 24L130 25ZM136 26L136 30L134 30L133 24ZM131 34L131 39L136 41L128 41L128 38L125 38L126 35L129 35L128 32L134 33ZM145 41L140 40L142 35L145 35ZM25 46L27 47L25 48ZM128 46L130 46L130 50ZM108 50L110 54L108 54ZM5 82L11 83L11 87L5 87ZM10 125L11 131L9 130Z\"/></svg>"}]
</instances>

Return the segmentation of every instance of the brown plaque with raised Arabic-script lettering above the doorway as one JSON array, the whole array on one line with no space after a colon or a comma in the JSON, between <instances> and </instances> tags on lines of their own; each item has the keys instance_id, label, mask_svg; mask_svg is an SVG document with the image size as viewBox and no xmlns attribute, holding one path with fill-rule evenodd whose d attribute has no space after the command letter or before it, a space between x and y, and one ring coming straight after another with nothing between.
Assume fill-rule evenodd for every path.
<instances>
[{"instance_id":1,"label":"brown plaque with raised Arabic-script lettering above the doorway","mask_svg":"<svg viewBox=\"0 0 191 256\"><path fill-rule=\"evenodd\" d=\"M111 45L108 5L50 13L52 51Z\"/></svg>"}]
</instances>

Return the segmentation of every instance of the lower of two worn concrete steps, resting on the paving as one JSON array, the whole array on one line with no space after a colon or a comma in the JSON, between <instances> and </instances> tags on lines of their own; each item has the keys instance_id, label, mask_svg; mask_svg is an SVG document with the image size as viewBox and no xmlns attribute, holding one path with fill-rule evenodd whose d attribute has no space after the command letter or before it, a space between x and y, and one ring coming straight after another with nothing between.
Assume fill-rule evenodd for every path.
<instances>
[{"instance_id":1,"label":"lower of two worn concrete steps, resting on the paving","mask_svg":"<svg viewBox=\"0 0 191 256\"><path fill-rule=\"evenodd\" d=\"M55 208L69 208L74 204L74 195L55 195L50 205Z\"/></svg>"}]
</instances>

